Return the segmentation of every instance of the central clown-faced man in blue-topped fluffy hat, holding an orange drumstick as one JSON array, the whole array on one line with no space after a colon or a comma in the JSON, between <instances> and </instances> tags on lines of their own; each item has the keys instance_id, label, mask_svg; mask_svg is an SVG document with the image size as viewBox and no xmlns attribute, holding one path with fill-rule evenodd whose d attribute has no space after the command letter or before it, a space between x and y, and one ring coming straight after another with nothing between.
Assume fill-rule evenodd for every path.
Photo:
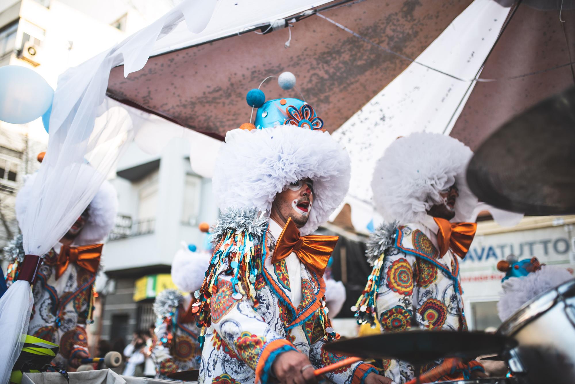
<instances>
[{"instance_id":1,"label":"central clown-faced man in blue-topped fluffy hat, holding an orange drumstick","mask_svg":"<svg viewBox=\"0 0 575 384\"><path fill-rule=\"evenodd\" d=\"M307 103L264 103L255 91L255 125L229 131L216 160L222 213L193 304L203 327L199 382L313 383L315 368L344 357L323 349L338 338L322 278L338 237L309 234L342 202L350 160ZM325 378L390 382L362 362Z\"/></svg>"}]
</instances>

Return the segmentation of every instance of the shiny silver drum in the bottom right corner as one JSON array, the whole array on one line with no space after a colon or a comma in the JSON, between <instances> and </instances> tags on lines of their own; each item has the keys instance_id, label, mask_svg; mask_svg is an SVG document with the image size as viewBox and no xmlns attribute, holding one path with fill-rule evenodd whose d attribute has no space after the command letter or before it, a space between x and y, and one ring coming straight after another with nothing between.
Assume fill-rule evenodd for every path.
<instances>
[{"instance_id":1,"label":"shiny silver drum in the bottom right corner","mask_svg":"<svg viewBox=\"0 0 575 384\"><path fill-rule=\"evenodd\" d=\"M511 371L522 382L573 383L575 279L528 301L497 333L517 341L507 357Z\"/></svg>"}]
</instances>

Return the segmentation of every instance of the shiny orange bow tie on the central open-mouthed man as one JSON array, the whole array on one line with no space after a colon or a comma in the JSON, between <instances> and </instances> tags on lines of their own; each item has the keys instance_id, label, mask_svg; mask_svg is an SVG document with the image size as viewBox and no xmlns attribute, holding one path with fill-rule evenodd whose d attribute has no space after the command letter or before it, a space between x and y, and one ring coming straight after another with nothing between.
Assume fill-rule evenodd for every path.
<instances>
[{"instance_id":1,"label":"shiny orange bow tie on the central open-mouthed man","mask_svg":"<svg viewBox=\"0 0 575 384\"><path fill-rule=\"evenodd\" d=\"M302 263L321 277L338 239L339 236L300 236L296 223L289 217L275 244L271 263L277 263L294 252Z\"/></svg>"}]
</instances>

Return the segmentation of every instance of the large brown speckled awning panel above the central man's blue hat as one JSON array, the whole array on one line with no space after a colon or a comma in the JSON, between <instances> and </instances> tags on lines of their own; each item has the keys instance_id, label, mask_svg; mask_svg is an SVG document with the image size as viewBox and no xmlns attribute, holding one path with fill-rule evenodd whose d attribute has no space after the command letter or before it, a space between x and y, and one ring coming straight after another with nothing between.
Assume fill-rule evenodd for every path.
<instances>
[{"instance_id":1,"label":"large brown speckled awning panel above the central man's blue hat","mask_svg":"<svg viewBox=\"0 0 575 384\"><path fill-rule=\"evenodd\" d=\"M470 3L354 1L321 14L381 47L313 15L294 24L289 48L288 31L281 29L151 57L128 78L116 67L108 94L187 128L224 136L249 121L248 90L267 76L291 71L333 132L411 63L385 49L415 59ZM266 99L299 98L293 90L282 91L275 79L262 90Z\"/></svg>"}]
</instances>

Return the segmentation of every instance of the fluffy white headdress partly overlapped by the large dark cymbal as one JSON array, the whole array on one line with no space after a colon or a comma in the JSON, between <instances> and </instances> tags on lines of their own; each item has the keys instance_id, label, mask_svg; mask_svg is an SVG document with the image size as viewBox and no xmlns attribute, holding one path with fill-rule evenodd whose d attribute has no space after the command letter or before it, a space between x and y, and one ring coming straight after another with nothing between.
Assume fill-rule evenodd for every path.
<instances>
[{"instance_id":1,"label":"fluffy white headdress partly overlapped by the large dark cymbal","mask_svg":"<svg viewBox=\"0 0 575 384\"><path fill-rule=\"evenodd\" d=\"M417 132L395 140L375 164L375 208L389 222L419 222L442 202L440 191L455 184L459 197L451 221L469 221L477 204L465 180L472 155L461 141L439 133Z\"/></svg>"}]
</instances>

